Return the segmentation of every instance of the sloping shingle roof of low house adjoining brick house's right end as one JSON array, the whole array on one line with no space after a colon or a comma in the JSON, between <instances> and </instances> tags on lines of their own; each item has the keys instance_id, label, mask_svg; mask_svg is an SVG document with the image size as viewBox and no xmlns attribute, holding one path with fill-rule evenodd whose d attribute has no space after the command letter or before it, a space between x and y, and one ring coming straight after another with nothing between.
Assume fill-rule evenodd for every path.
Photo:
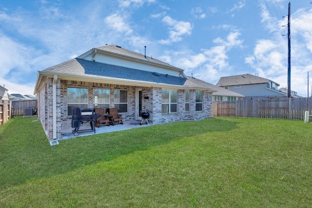
<instances>
[{"instance_id":1,"label":"sloping shingle roof of low house adjoining brick house's right end","mask_svg":"<svg viewBox=\"0 0 312 208\"><path fill-rule=\"evenodd\" d=\"M213 93L213 95L222 95L222 96L233 96L233 97L244 97L244 95L241 95L239 93L235 93L231 90L224 89L222 87L218 87L214 84L211 84L209 82L205 82L203 80L197 79L192 76L187 76L188 80L187 82L192 82L194 85L202 85L204 87L210 88L216 92Z\"/></svg>"}]
</instances>

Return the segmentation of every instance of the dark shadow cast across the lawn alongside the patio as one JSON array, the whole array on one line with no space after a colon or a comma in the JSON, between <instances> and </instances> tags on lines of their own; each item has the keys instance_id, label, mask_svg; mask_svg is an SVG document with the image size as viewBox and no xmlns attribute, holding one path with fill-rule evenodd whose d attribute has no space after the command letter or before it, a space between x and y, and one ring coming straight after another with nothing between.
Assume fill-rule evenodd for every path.
<instances>
[{"instance_id":1,"label":"dark shadow cast across the lawn alongside the patio","mask_svg":"<svg viewBox=\"0 0 312 208\"><path fill-rule=\"evenodd\" d=\"M237 122L213 117L76 137L51 147L40 122L33 122L35 119L16 117L0 128L1 189L110 161L189 136L237 128Z\"/></svg>"}]
</instances>

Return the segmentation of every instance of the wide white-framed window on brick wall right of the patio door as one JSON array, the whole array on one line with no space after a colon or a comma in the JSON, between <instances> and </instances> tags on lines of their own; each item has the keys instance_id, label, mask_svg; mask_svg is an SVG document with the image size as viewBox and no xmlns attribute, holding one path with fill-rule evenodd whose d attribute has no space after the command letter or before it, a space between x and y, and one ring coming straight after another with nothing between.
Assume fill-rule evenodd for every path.
<instances>
[{"instance_id":1,"label":"wide white-framed window on brick wall right of the patio door","mask_svg":"<svg viewBox=\"0 0 312 208\"><path fill-rule=\"evenodd\" d=\"M177 113L176 90L162 90L161 113Z\"/></svg>"}]
</instances>

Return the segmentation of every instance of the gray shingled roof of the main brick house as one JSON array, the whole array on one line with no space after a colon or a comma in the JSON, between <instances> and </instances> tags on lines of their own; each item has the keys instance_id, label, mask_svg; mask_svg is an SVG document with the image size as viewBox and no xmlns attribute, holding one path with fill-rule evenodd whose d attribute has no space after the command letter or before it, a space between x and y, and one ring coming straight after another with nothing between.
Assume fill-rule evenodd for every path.
<instances>
[{"instance_id":1,"label":"gray shingled roof of the main brick house","mask_svg":"<svg viewBox=\"0 0 312 208\"><path fill-rule=\"evenodd\" d=\"M156 70L153 72L145 71L142 69L130 68L127 67L127 65L122 66L112 63L103 63L95 61L94 59L91 61L90 58L86 58L88 56L90 57L91 54L96 56L97 53L102 53L104 56L117 56L122 59L125 58L144 62L144 64L155 64L154 67L156 67ZM180 76L168 75L169 73L161 74L160 72L166 72L166 70L161 70L164 67L166 67L167 70L177 71ZM157 71L157 68L160 70ZM39 72L35 92L41 82L42 76L59 76L61 79L93 81L108 84L198 89L215 92L215 90L208 85L189 81L189 78L184 75L183 71L184 70L163 61L152 57L145 57L142 54L121 48L120 46L106 45L93 48L76 58L48 67ZM177 75L177 73L175 74Z\"/></svg>"}]
</instances>

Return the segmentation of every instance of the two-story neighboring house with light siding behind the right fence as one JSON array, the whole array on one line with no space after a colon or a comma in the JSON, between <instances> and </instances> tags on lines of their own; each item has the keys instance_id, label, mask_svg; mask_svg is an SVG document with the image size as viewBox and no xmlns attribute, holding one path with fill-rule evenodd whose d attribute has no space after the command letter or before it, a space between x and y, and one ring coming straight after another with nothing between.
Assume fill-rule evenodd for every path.
<instances>
[{"instance_id":1,"label":"two-story neighboring house with light siding behind the right fence","mask_svg":"<svg viewBox=\"0 0 312 208\"><path fill-rule=\"evenodd\" d=\"M223 76L216 85L244 95L243 99L287 97L287 94L277 90L278 83L250 74Z\"/></svg>"}]
</instances>

